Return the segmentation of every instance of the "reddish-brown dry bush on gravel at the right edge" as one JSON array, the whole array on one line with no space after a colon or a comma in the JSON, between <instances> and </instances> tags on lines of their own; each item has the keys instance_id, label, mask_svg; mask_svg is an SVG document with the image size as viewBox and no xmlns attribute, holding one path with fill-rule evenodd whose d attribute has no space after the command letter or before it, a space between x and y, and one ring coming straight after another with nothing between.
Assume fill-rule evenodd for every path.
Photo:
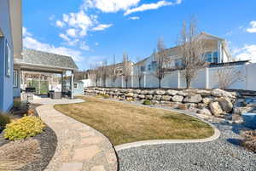
<instances>
[{"instance_id":1,"label":"reddish-brown dry bush on gravel at the right edge","mask_svg":"<svg viewBox=\"0 0 256 171\"><path fill-rule=\"evenodd\" d=\"M245 131L242 133L242 143L244 147L249 151L253 151L256 153L256 130L254 131Z\"/></svg>"}]
</instances>

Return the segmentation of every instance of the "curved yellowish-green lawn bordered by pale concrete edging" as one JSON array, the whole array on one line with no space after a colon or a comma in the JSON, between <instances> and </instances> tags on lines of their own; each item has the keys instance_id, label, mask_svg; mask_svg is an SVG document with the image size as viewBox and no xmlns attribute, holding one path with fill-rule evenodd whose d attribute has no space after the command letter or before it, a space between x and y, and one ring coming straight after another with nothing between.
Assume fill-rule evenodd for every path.
<instances>
[{"instance_id":1,"label":"curved yellowish-green lawn bordered by pale concrete edging","mask_svg":"<svg viewBox=\"0 0 256 171\"><path fill-rule=\"evenodd\" d=\"M189 140L211 136L200 120L177 112L125 104L95 97L86 102L55 105L55 109L105 134L113 145L139 140Z\"/></svg>"}]
</instances>

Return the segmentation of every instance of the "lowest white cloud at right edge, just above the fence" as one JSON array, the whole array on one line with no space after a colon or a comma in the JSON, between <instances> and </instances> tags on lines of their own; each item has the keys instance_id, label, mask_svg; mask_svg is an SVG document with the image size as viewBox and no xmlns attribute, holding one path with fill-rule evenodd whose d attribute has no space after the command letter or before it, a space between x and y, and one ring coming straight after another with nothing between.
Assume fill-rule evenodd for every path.
<instances>
[{"instance_id":1,"label":"lowest white cloud at right edge, just above the fence","mask_svg":"<svg viewBox=\"0 0 256 171\"><path fill-rule=\"evenodd\" d=\"M243 48L235 48L232 54L236 60L251 60L252 62L256 62L256 44L246 44Z\"/></svg>"}]
</instances>

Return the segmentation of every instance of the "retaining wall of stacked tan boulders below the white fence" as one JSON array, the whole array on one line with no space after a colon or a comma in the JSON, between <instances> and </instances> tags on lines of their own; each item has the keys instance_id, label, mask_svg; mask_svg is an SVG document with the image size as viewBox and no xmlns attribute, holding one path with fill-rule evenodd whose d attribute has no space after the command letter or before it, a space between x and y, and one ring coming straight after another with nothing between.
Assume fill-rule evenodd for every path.
<instances>
[{"instance_id":1,"label":"retaining wall of stacked tan boulders below the white fence","mask_svg":"<svg viewBox=\"0 0 256 171\"><path fill-rule=\"evenodd\" d=\"M222 89L131 89L131 88L85 88L84 94L108 94L117 100L150 100L154 105L169 105L172 108L194 110L198 114L224 117L226 114L241 114L248 107L246 98L237 92ZM256 102L256 101L255 101ZM256 103L255 103L256 104ZM256 107L256 105L255 105Z\"/></svg>"}]
</instances>

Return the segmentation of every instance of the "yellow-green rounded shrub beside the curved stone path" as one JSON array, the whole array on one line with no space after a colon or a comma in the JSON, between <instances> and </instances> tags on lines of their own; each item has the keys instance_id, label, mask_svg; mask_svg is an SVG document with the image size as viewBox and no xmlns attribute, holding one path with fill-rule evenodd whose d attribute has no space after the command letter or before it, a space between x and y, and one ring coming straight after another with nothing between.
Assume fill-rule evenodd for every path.
<instances>
[{"instance_id":1,"label":"yellow-green rounded shrub beside the curved stone path","mask_svg":"<svg viewBox=\"0 0 256 171\"><path fill-rule=\"evenodd\" d=\"M9 140L22 140L42 133L44 127L39 117L26 116L7 124L3 136Z\"/></svg>"}]
</instances>

